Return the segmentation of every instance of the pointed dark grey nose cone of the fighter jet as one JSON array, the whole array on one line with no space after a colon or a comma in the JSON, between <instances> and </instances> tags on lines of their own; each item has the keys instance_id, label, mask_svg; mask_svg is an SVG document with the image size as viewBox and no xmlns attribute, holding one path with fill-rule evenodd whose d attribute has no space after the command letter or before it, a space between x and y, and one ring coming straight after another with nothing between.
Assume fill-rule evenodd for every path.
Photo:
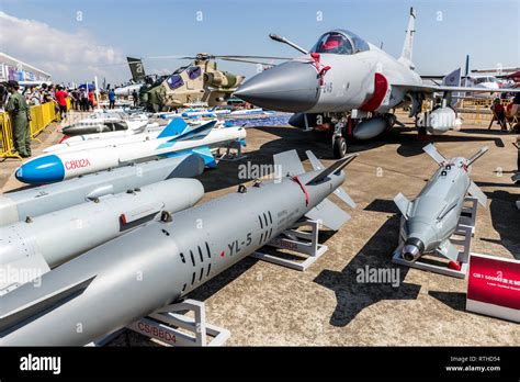
<instances>
[{"instance_id":1,"label":"pointed dark grey nose cone of the fighter jet","mask_svg":"<svg viewBox=\"0 0 520 382\"><path fill-rule=\"evenodd\" d=\"M283 63L246 81L235 96L263 109L305 112L318 101L318 74L310 63Z\"/></svg>"}]
</instances>

